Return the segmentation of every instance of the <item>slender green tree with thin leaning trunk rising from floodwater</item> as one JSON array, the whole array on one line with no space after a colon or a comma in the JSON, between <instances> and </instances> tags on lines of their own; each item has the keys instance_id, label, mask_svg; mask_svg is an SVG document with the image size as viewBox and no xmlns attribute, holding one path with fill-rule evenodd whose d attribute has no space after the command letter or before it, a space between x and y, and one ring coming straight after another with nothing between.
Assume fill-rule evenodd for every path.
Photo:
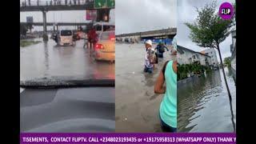
<instances>
[{"instance_id":1,"label":"slender green tree with thin leaning trunk rising from floodwater","mask_svg":"<svg viewBox=\"0 0 256 144\"><path fill-rule=\"evenodd\" d=\"M198 8L196 10L198 12L198 17L196 18L195 22L185 23L185 25L188 26L190 29L189 37L192 42L195 42L198 46L215 48L218 50L218 55L222 65L222 73L224 76L228 96L231 102L232 98L229 86L226 82L226 74L222 64L222 54L220 52L219 45L226 39L226 37L230 35L230 29L234 20L223 20L218 16L218 13L215 13L216 1L212 2L211 4L206 4L206 6L202 7L202 9L200 10ZM231 112L233 112L232 109Z\"/></svg>"}]
</instances>

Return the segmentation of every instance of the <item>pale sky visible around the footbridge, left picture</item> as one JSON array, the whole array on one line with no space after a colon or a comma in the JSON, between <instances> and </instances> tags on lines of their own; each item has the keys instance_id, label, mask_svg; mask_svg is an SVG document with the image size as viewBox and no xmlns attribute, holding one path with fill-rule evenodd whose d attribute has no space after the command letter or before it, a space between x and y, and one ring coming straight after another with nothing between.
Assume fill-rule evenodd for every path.
<instances>
[{"instance_id":1,"label":"pale sky visible around the footbridge, left picture","mask_svg":"<svg viewBox=\"0 0 256 144\"><path fill-rule=\"evenodd\" d=\"M46 1L50 2L50 0L40 0L40 2L46 2ZM42 22L42 12L20 12L20 22L26 22L26 17L28 16L32 16L34 19L34 22ZM110 10L110 22L114 22L114 19L115 18L114 18L114 9L113 9L113 10ZM86 10L70 10L70 11L48 11L46 13L46 22L88 22L88 21L86 21ZM65 26L65 27L74 28L74 26L73 27ZM52 27L48 28L47 26L48 30L50 30L51 28ZM42 26L36 26L35 29L42 30Z\"/></svg>"}]
</instances>

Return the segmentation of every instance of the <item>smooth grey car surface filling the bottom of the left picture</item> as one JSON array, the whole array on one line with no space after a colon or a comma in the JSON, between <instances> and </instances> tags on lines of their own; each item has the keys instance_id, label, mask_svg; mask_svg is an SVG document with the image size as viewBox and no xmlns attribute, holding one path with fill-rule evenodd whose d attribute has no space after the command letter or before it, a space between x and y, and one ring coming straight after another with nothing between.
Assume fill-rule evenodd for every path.
<instances>
[{"instance_id":1,"label":"smooth grey car surface filling the bottom of the left picture","mask_svg":"<svg viewBox=\"0 0 256 144\"><path fill-rule=\"evenodd\" d=\"M26 88L21 132L114 132L114 87Z\"/></svg>"}]
</instances>

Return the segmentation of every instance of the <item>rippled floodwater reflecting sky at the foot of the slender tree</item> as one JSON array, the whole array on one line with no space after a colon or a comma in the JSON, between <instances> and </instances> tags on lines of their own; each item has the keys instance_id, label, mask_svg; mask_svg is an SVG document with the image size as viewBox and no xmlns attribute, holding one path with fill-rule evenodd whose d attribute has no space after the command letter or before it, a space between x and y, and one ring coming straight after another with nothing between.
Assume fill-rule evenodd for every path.
<instances>
[{"instance_id":1,"label":"rippled floodwater reflecting sky at the foot of the slender tree","mask_svg":"<svg viewBox=\"0 0 256 144\"><path fill-rule=\"evenodd\" d=\"M230 70L225 68L236 122L236 87ZM178 84L178 131L233 132L230 102L222 74L215 70L206 77Z\"/></svg>"}]
</instances>

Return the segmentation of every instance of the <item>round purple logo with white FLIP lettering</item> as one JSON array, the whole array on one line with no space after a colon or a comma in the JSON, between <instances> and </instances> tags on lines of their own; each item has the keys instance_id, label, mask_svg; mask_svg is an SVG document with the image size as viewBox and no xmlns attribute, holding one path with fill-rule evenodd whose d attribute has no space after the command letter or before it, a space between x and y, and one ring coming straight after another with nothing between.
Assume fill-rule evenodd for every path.
<instances>
[{"instance_id":1,"label":"round purple logo with white FLIP lettering","mask_svg":"<svg viewBox=\"0 0 256 144\"><path fill-rule=\"evenodd\" d=\"M224 2L219 7L218 14L222 19L228 20L233 17L234 8L229 2Z\"/></svg>"}]
</instances>

